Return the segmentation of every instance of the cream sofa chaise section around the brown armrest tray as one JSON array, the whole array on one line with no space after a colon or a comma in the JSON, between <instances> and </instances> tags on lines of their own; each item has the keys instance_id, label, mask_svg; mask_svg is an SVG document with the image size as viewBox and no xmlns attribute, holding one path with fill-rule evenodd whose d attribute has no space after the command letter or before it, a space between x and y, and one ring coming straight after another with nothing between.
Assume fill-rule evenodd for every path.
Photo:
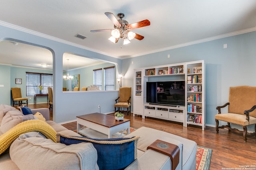
<instances>
[{"instance_id":1,"label":"cream sofa chaise section around the brown armrest tray","mask_svg":"<svg viewBox=\"0 0 256 170\"><path fill-rule=\"evenodd\" d=\"M147 147L160 139L168 143L177 145L180 148L180 162L176 170L195 170L196 169L196 142L148 127L140 127L136 131L126 135L125 137L140 136L138 142L138 159L130 164L126 169L129 170L170 170L171 160L169 156L147 150Z\"/></svg>"}]
</instances>

